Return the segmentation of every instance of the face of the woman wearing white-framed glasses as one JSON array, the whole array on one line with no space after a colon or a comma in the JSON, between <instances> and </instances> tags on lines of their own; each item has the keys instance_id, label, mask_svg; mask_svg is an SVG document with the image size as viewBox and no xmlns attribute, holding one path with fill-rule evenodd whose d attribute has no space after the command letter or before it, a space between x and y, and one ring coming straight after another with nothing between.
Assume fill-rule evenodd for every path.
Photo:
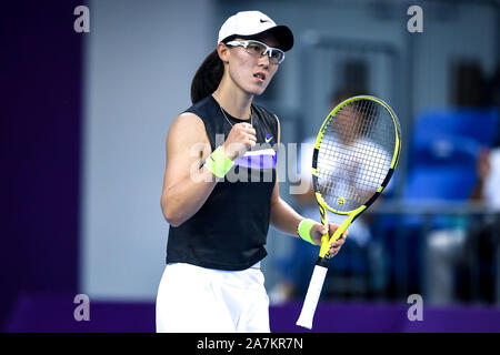
<instances>
[{"instance_id":1,"label":"face of the woman wearing white-framed glasses","mask_svg":"<svg viewBox=\"0 0 500 355\"><path fill-rule=\"evenodd\" d=\"M244 41L236 39L237 41ZM257 39L269 47L277 47L278 42L270 36ZM243 47L229 48L228 70L232 81L244 92L260 95L264 92L272 77L278 70L278 63L271 63L269 55L256 57Z\"/></svg>"}]
</instances>

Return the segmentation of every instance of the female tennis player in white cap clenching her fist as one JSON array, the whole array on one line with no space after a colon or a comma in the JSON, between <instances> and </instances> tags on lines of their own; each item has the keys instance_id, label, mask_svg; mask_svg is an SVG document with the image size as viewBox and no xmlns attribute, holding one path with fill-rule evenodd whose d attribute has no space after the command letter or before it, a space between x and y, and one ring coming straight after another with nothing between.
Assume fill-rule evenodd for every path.
<instances>
[{"instance_id":1,"label":"female tennis player in white cap clenching her fist","mask_svg":"<svg viewBox=\"0 0 500 355\"><path fill-rule=\"evenodd\" d=\"M157 332L270 332L260 271L269 224L318 245L327 232L280 199L280 122L252 103L292 45L288 27L238 12L193 78L193 105L167 138L161 207L170 230Z\"/></svg>"}]
</instances>

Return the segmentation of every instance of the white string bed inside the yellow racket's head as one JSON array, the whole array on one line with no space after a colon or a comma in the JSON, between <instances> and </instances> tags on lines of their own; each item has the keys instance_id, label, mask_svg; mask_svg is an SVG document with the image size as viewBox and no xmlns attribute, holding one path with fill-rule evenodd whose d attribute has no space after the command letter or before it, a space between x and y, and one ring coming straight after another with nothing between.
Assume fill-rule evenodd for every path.
<instances>
[{"instance_id":1,"label":"white string bed inside the yellow racket's head","mask_svg":"<svg viewBox=\"0 0 500 355\"><path fill-rule=\"evenodd\" d=\"M328 123L318 154L318 185L328 205L352 211L382 184L396 145L394 124L381 104L348 103Z\"/></svg>"}]
</instances>

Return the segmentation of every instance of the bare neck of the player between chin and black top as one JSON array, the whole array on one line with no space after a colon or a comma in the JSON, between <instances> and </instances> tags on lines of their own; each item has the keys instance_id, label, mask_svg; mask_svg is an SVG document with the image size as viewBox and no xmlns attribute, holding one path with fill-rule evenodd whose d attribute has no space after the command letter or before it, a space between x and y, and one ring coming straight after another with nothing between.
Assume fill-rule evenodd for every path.
<instances>
[{"instance_id":1,"label":"bare neck of the player between chin and black top","mask_svg":"<svg viewBox=\"0 0 500 355\"><path fill-rule=\"evenodd\" d=\"M253 94L243 92L240 88L230 88L227 81L222 80L213 92L213 98L233 118L250 120Z\"/></svg>"}]
</instances>

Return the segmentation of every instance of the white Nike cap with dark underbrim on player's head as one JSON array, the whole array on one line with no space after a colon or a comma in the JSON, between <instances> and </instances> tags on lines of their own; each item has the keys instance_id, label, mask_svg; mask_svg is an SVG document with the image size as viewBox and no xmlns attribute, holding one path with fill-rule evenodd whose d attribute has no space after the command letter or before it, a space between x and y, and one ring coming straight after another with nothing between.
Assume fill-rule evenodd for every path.
<instances>
[{"instance_id":1,"label":"white Nike cap with dark underbrim on player's head","mask_svg":"<svg viewBox=\"0 0 500 355\"><path fill-rule=\"evenodd\" d=\"M286 26L277 26L270 17L260 11L241 11L231 16L219 30L217 43L230 37L250 39L271 33L279 42L278 48L288 51L293 47L293 33Z\"/></svg>"}]
</instances>

